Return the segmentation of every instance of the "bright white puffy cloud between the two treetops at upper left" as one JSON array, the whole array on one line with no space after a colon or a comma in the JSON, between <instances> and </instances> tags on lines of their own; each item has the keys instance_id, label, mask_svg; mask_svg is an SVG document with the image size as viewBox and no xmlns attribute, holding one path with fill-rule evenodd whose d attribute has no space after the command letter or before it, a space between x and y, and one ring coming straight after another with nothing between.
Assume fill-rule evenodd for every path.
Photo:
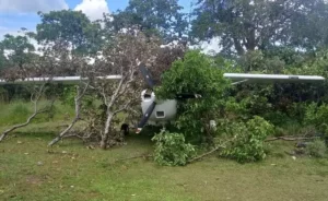
<instances>
[{"instance_id":1,"label":"bright white puffy cloud between the two treetops at upper left","mask_svg":"<svg viewBox=\"0 0 328 201\"><path fill-rule=\"evenodd\" d=\"M106 0L82 0L74 10L82 11L92 21L103 19L104 13L109 13Z\"/></svg>"}]
</instances>

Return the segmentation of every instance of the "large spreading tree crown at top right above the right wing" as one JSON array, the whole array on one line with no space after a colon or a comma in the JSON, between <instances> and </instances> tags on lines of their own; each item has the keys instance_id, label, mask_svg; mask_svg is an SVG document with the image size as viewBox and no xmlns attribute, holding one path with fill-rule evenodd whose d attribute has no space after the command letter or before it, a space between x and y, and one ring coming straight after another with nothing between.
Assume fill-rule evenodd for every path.
<instances>
[{"instance_id":1,"label":"large spreading tree crown at top right above the right wing","mask_svg":"<svg viewBox=\"0 0 328 201\"><path fill-rule=\"evenodd\" d=\"M192 21L197 39L220 37L226 55L292 46L327 45L324 0L199 0Z\"/></svg>"}]
</instances>

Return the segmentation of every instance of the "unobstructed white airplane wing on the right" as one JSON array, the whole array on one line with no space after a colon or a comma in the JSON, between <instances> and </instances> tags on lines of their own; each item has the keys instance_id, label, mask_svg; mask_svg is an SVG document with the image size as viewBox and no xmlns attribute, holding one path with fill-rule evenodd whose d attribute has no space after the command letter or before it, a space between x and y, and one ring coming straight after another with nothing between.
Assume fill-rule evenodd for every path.
<instances>
[{"instance_id":1,"label":"unobstructed white airplane wing on the right","mask_svg":"<svg viewBox=\"0 0 328 201\"><path fill-rule=\"evenodd\" d=\"M323 82L326 79L317 75L288 75L288 74L246 74L224 73L224 78L236 83L312 83Z\"/></svg>"}]
</instances>

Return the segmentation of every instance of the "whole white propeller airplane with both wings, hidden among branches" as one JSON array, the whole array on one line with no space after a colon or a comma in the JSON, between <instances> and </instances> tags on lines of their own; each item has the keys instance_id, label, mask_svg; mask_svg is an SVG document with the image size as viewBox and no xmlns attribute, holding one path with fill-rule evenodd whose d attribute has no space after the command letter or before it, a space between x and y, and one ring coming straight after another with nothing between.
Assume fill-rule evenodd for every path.
<instances>
[{"instance_id":1,"label":"whole white propeller airplane with both wings, hidden among branches","mask_svg":"<svg viewBox=\"0 0 328 201\"><path fill-rule=\"evenodd\" d=\"M150 88L154 87L149 71L144 66L140 66L140 71L144 76ZM224 78L233 81L232 85L241 83L315 83L324 82L324 76L317 75L286 75L286 74L246 74L246 73L224 73ZM120 75L98 76L104 80L120 80ZM24 80L15 80L14 82L7 82L0 80L0 85L4 84L43 84L46 82L63 83L63 84L78 84L81 81L86 81L86 78L81 76L55 76L55 78L28 78ZM141 108L143 117L138 123L137 133L141 132L145 125L163 126L167 122L174 121L177 114L178 99L186 98L201 98L198 94L177 94L176 99L157 99L154 92L144 90L141 93ZM126 128L125 128L126 129Z\"/></svg>"}]
</instances>

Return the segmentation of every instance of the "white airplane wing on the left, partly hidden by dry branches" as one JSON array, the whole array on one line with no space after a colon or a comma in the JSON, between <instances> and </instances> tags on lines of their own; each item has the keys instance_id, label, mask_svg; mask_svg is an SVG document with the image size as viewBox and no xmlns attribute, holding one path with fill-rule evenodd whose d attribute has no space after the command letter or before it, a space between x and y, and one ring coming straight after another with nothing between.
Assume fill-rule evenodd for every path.
<instances>
[{"instance_id":1,"label":"white airplane wing on the left, partly hidden by dry branches","mask_svg":"<svg viewBox=\"0 0 328 201\"><path fill-rule=\"evenodd\" d=\"M101 80L120 80L121 75L107 75L107 76L97 76ZM19 79L15 81L5 81L0 79L0 85L4 84L44 84L46 82L63 83L63 84L77 84L81 81L87 81L87 78L81 76L54 76L54 78L27 78Z\"/></svg>"}]
</instances>

